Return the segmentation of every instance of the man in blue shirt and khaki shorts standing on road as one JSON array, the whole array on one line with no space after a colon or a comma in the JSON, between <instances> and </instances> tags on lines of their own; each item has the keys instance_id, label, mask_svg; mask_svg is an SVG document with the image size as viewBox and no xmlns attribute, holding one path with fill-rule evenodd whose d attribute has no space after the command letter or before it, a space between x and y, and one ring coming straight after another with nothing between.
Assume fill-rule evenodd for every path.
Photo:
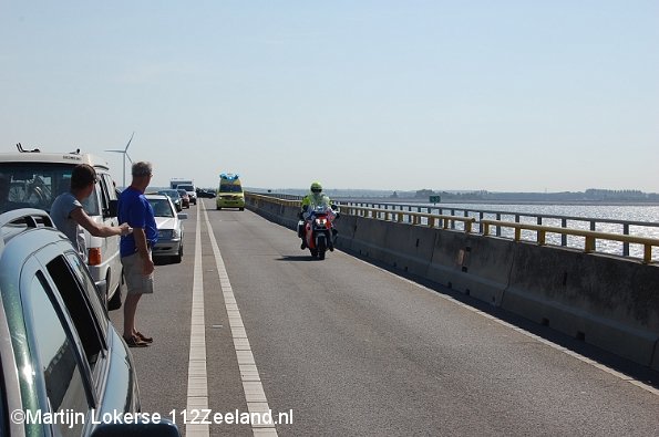
<instances>
[{"instance_id":1,"label":"man in blue shirt and khaki shorts standing on road","mask_svg":"<svg viewBox=\"0 0 659 437\"><path fill-rule=\"evenodd\" d=\"M151 248L158 238L153 208L144 191L153 176L151 163L133 164L133 181L119 198L119 220L127 222L133 233L122 237L121 261L126 278L127 294L124 302L124 340L131 347L144 347L153 342L135 327L137 302L142 294L153 293L154 264Z\"/></svg>"}]
</instances>

